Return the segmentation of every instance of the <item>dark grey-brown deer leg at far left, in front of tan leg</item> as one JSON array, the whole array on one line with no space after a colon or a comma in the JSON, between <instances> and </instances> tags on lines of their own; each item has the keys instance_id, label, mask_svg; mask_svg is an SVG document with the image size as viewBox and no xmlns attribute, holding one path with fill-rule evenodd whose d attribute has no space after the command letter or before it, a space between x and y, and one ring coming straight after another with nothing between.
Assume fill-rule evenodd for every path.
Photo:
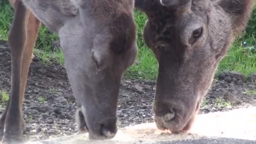
<instances>
[{"instance_id":1,"label":"dark grey-brown deer leg at far left, in front of tan leg","mask_svg":"<svg viewBox=\"0 0 256 144\"><path fill-rule=\"evenodd\" d=\"M3 135L3 143L23 140L24 119L22 116L21 64L22 54L27 41L28 10L20 0L14 4L14 19L9 32L8 42L11 49L11 95Z\"/></svg>"}]
</instances>

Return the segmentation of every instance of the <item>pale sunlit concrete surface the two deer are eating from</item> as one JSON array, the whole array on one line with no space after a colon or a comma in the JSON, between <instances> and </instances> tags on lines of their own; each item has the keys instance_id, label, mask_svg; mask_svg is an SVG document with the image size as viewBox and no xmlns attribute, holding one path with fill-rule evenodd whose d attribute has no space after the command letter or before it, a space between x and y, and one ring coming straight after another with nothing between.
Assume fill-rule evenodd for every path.
<instances>
[{"instance_id":1,"label":"pale sunlit concrete surface the two deer are eating from","mask_svg":"<svg viewBox=\"0 0 256 144\"><path fill-rule=\"evenodd\" d=\"M85 133L25 144L256 144L256 107L197 115L192 129L183 134L147 123L120 128L111 140L89 140Z\"/></svg>"}]
</instances>

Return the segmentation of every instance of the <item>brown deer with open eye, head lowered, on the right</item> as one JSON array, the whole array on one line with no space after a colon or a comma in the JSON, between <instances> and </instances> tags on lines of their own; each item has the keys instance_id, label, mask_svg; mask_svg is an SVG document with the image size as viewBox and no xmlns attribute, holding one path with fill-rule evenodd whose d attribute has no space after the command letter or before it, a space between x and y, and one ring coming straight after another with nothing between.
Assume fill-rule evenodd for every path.
<instances>
[{"instance_id":1,"label":"brown deer with open eye, head lowered, on the right","mask_svg":"<svg viewBox=\"0 0 256 144\"><path fill-rule=\"evenodd\" d=\"M143 37L159 64L154 120L160 130L192 127L219 62L251 16L253 0L135 0Z\"/></svg>"}]
</instances>

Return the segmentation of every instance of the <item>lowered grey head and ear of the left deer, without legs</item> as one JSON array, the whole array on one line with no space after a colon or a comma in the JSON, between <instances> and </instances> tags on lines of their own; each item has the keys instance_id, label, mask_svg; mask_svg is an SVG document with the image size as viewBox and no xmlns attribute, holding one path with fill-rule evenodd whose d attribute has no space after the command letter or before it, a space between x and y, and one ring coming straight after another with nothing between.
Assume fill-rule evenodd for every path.
<instances>
[{"instance_id":1,"label":"lowered grey head and ear of the left deer, without legs","mask_svg":"<svg viewBox=\"0 0 256 144\"><path fill-rule=\"evenodd\" d=\"M22 1L43 24L59 33L78 104L78 128L88 128L93 139L114 137L120 80L137 54L134 1Z\"/></svg>"}]
</instances>

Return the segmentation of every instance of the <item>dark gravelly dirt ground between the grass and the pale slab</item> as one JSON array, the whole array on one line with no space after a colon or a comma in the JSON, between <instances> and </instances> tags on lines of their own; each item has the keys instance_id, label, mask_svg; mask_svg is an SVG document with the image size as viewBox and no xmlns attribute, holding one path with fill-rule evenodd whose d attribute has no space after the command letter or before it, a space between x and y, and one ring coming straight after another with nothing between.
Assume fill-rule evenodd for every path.
<instances>
[{"instance_id":1,"label":"dark gravelly dirt ground between the grass and the pale slab","mask_svg":"<svg viewBox=\"0 0 256 144\"><path fill-rule=\"evenodd\" d=\"M0 91L10 92L10 74L11 53L8 46L1 42ZM256 75L251 75L251 79L255 77ZM235 72L221 74L205 96L200 114L256 106L256 83L244 78ZM118 99L118 127L154 122L154 93L155 81L123 79ZM225 104L223 99L231 101L232 105ZM0 104L2 115L5 104ZM66 71L59 64L45 67L36 57L33 59L23 106L26 136L30 140L79 133L74 119L75 98Z\"/></svg>"}]
</instances>

